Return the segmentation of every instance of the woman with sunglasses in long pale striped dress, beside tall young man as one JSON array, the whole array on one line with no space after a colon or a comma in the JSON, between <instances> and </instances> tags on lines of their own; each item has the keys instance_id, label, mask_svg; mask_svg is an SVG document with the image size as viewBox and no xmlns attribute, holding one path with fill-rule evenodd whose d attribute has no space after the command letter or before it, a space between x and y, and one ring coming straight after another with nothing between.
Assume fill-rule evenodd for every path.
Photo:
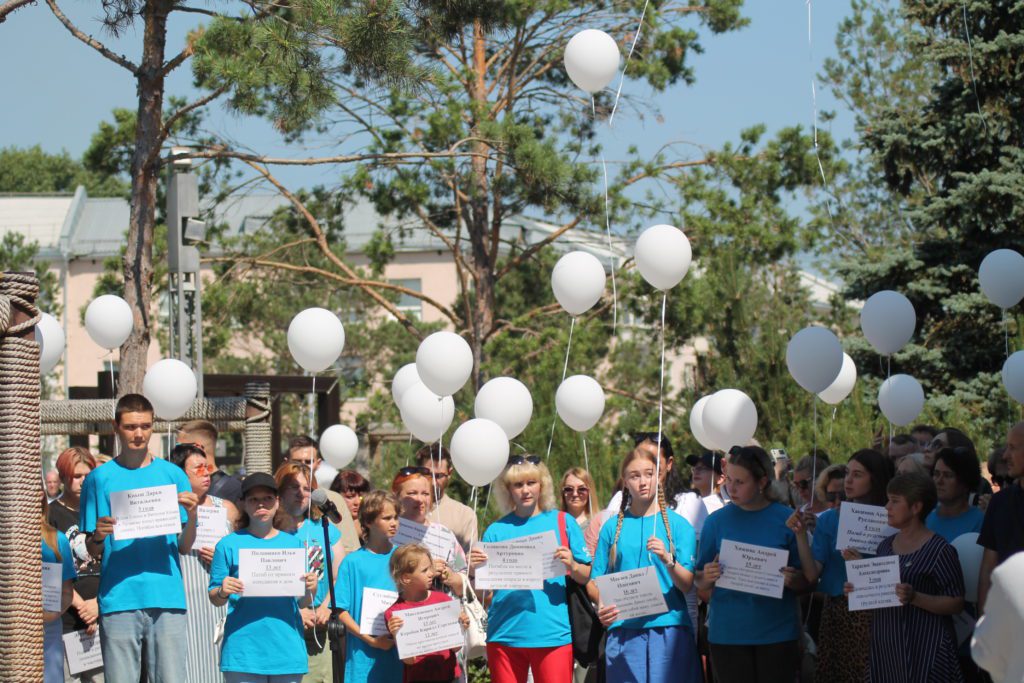
<instances>
[{"instance_id":1,"label":"woman with sunglasses in long pale striped dress, beside tall young man","mask_svg":"<svg viewBox=\"0 0 1024 683\"><path fill-rule=\"evenodd\" d=\"M223 536L231 532L234 521L239 517L238 509L221 498L210 496L210 475L206 453L196 443L178 443L171 451L170 461L184 470L191 484L193 493L199 497L198 508L223 508ZM200 518L202 513L197 511ZM181 578L185 586L185 601L188 605L186 613L186 634L188 643L188 660L186 670L189 681L219 681L219 652L213 644L214 633L224 621L227 608L224 605L214 605L210 602L210 562L213 560L213 548L199 547L196 543L187 555L180 555Z\"/></svg>"}]
</instances>

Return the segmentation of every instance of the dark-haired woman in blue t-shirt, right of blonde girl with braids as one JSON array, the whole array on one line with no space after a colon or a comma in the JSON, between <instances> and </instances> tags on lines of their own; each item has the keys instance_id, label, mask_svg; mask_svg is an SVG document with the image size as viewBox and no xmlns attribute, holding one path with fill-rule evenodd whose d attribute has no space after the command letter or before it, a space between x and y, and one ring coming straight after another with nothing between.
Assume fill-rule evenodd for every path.
<instances>
[{"instance_id":1,"label":"dark-haired woman in blue t-shirt, right of blonde girl with braids","mask_svg":"<svg viewBox=\"0 0 1024 683\"><path fill-rule=\"evenodd\" d=\"M800 572L797 539L785 525L792 510L772 498L775 478L763 449L729 452L725 484L731 505L714 512L700 533L697 588L712 591L708 642L715 677L722 683L793 683L800 665L797 593L809 588ZM716 587L728 566L719 563L722 543L732 541L788 552L781 598Z\"/></svg>"}]
</instances>

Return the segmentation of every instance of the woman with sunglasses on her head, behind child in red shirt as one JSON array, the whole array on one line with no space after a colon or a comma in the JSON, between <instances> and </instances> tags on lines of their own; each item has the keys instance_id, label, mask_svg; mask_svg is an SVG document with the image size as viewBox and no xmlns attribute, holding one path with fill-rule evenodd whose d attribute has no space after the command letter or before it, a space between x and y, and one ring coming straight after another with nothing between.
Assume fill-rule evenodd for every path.
<instances>
[{"instance_id":1,"label":"woman with sunglasses on her head, behind child in red shirt","mask_svg":"<svg viewBox=\"0 0 1024 683\"><path fill-rule=\"evenodd\" d=\"M452 529L430 518L430 510L434 507L434 480L430 470L426 467L402 467L391 481L391 493L398 500L398 536L395 541L403 538L401 524L407 519L436 530L431 539L442 540L446 547L427 544L433 556L435 575L441 583L441 589L446 589L452 595L462 595L462 582L469 564Z\"/></svg>"}]
</instances>

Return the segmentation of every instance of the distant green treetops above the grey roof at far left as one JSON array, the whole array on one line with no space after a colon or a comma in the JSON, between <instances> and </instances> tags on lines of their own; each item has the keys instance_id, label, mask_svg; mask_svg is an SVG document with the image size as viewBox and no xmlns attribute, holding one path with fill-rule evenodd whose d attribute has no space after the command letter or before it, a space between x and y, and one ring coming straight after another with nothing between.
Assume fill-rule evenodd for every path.
<instances>
[{"instance_id":1,"label":"distant green treetops above the grey roof at far left","mask_svg":"<svg viewBox=\"0 0 1024 683\"><path fill-rule=\"evenodd\" d=\"M0 148L0 193L74 193L79 185L90 197L123 197L127 193L121 178L93 165L88 156L77 161L67 152L43 152L38 144Z\"/></svg>"}]
</instances>

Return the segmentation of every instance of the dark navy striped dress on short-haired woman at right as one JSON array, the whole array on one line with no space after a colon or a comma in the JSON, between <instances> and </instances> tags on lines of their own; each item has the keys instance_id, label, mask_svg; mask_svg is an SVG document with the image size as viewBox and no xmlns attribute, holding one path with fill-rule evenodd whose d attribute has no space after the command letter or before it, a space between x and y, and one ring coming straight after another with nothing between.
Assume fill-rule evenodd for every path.
<instances>
[{"instance_id":1,"label":"dark navy striped dress on short-haired woman at right","mask_svg":"<svg viewBox=\"0 0 1024 683\"><path fill-rule=\"evenodd\" d=\"M879 557L894 555L891 536ZM964 596L964 573L956 551L938 533L907 555L900 555L900 581L926 595ZM912 605L874 610L867 679L871 683L956 683L964 680L956 657L951 616Z\"/></svg>"}]
</instances>

